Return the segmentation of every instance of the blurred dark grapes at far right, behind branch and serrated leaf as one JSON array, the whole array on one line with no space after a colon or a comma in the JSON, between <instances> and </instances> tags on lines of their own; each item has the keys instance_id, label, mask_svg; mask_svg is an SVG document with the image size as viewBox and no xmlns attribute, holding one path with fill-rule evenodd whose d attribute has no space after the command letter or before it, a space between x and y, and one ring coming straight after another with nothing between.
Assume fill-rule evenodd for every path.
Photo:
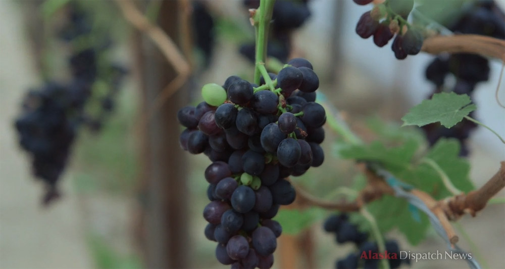
<instances>
[{"instance_id":1,"label":"blurred dark grapes at far right, behind branch and serrated leaf","mask_svg":"<svg viewBox=\"0 0 505 269\"><path fill-rule=\"evenodd\" d=\"M423 7L418 8L421 12ZM505 39L505 15L496 6L494 1L476 1L465 9L465 12L457 20L440 21L451 31L480 34ZM472 96L479 82L489 79L489 61L474 54L451 54L437 56L426 67L426 79L434 84L434 93L440 93L445 88L452 88L457 94ZM446 85L446 78L452 76L456 83ZM470 114L472 116L473 113ZM432 123L422 127L430 145L436 143L439 138L456 138L461 142L460 155L466 156L469 151L466 145L471 131L477 127L472 121L463 120L456 126L445 128L439 123Z\"/></svg>"}]
</instances>

